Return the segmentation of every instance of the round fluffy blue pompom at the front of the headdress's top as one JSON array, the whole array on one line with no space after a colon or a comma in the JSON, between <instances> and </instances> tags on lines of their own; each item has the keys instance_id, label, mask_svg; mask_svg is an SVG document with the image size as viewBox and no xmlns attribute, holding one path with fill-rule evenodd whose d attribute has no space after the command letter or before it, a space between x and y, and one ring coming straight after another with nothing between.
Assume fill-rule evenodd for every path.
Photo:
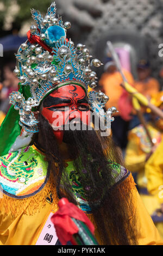
<instances>
[{"instance_id":1,"label":"round fluffy blue pompom at the front of the headdress's top","mask_svg":"<svg viewBox=\"0 0 163 256\"><path fill-rule=\"evenodd\" d=\"M66 39L65 29L59 26L51 26L45 32L46 40L45 43L50 47L55 47L55 43L61 38Z\"/></svg>"}]
</instances>

